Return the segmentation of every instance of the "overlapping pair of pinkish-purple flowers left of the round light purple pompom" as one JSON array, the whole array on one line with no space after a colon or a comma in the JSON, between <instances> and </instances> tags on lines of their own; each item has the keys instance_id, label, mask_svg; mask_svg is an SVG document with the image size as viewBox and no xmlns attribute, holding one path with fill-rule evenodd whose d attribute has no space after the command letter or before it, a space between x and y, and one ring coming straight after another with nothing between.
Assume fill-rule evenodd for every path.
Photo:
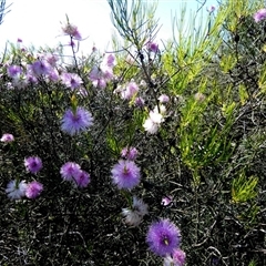
<instances>
[{"instance_id":1,"label":"overlapping pair of pinkish-purple flowers left of the round light purple pompom","mask_svg":"<svg viewBox=\"0 0 266 266\"><path fill-rule=\"evenodd\" d=\"M71 182L75 187L86 187L91 181L90 174L73 162L63 164L60 174L64 181Z\"/></svg>"}]
</instances>

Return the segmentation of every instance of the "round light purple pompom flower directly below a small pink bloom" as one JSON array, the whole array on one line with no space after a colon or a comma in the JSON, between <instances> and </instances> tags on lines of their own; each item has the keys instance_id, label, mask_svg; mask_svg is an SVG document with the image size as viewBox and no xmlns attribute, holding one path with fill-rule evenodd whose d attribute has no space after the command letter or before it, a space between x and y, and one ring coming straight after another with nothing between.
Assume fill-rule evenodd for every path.
<instances>
[{"instance_id":1,"label":"round light purple pompom flower directly below a small pink bloom","mask_svg":"<svg viewBox=\"0 0 266 266\"><path fill-rule=\"evenodd\" d=\"M113 183L119 190L131 190L140 184L141 172L132 161L120 160L111 171Z\"/></svg>"}]
</instances>

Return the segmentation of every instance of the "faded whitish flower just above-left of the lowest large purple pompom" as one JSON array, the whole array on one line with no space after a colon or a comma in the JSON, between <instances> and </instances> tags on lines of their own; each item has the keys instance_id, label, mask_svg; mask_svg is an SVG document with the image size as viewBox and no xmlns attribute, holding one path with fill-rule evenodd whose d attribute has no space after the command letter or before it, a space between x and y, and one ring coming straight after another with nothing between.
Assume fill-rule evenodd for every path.
<instances>
[{"instance_id":1,"label":"faded whitish flower just above-left of the lowest large purple pompom","mask_svg":"<svg viewBox=\"0 0 266 266\"><path fill-rule=\"evenodd\" d=\"M137 226L144 215L146 215L147 205L140 198L133 196L132 209L122 208L122 215L125 216L125 223L132 226Z\"/></svg>"}]
</instances>

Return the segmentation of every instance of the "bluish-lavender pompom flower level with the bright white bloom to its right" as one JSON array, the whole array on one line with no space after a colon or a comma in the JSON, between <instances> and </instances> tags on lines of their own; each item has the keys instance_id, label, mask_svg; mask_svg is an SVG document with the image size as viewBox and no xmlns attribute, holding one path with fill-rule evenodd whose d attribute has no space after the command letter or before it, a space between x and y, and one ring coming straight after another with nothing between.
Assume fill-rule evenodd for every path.
<instances>
[{"instance_id":1,"label":"bluish-lavender pompom flower level with the bright white bloom to its right","mask_svg":"<svg viewBox=\"0 0 266 266\"><path fill-rule=\"evenodd\" d=\"M61 122L61 130L74 135L86 131L93 124L93 117L89 111L78 106L75 112L66 110Z\"/></svg>"}]
</instances>

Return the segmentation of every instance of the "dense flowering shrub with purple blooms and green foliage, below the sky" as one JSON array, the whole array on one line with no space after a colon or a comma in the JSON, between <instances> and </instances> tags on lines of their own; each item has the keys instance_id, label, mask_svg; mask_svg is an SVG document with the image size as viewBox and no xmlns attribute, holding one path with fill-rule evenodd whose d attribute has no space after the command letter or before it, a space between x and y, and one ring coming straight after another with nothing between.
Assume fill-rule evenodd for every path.
<instances>
[{"instance_id":1,"label":"dense flowering shrub with purple blooms and green foliage, below the sky","mask_svg":"<svg viewBox=\"0 0 266 266\"><path fill-rule=\"evenodd\" d=\"M264 265L262 10L163 44L155 7L109 3L122 49L79 58L68 19L72 63L2 55L0 264Z\"/></svg>"}]
</instances>

